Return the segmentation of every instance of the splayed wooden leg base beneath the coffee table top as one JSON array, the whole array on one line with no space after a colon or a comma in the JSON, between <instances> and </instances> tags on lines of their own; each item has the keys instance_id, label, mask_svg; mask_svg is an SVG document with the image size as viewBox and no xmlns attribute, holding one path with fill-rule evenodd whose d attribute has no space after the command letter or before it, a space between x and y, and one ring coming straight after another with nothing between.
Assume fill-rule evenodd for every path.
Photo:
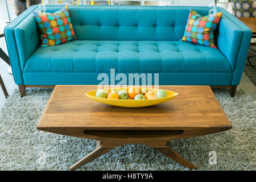
<instances>
[{"instance_id":1,"label":"splayed wooden leg base beneath the coffee table top","mask_svg":"<svg viewBox=\"0 0 256 182\"><path fill-rule=\"evenodd\" d=\"M76 131L77 132L77 131ZM63 133L65 134L65 133ZM71 134L71 133L69 133ZM77 134L77 133L76 133ZM196 167L184 159L183 156L177 154L168 145L168 141L174 139L181 139L185 137L183 130L166 130L166 131L108 131L108 130L82 130L82 135L77 134L73 137L82 137L96 139L96 149L90 154L86 155L79 162L74 164L70 169L75 170L85 164L92 162L94 159L106 154L110 150L122 146L124 144L144 144L156 151L162 152L168 158L175 160L177 163L189 168L196 169ZM188 133L191 135L191 133Z\"/></svg>"}]
</instances>

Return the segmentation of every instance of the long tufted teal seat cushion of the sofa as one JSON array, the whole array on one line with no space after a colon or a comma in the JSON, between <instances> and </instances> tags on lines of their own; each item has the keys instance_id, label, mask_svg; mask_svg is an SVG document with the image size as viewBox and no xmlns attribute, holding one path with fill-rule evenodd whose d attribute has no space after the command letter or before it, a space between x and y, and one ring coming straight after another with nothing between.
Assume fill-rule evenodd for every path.
<instances>
[{"instance_id":1,"label":"long tufted teal seat cushion of the sofa","mask_svg":"<svg viewBox=\"0 0 256 182\"><path fill-rule=\"evenodd\" d=\"M232 72L216 48L181 41L77 40L39 47L23 72Z\"/></svg>"}]
</instances>

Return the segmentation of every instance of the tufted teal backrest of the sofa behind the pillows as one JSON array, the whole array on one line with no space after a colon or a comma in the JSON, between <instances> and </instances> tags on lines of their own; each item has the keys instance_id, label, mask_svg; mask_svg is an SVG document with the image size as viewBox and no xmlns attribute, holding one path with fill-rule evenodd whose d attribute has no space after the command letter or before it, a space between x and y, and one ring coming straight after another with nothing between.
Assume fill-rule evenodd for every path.
<instances>
[{"instance_id":1,"label":"tufted teal backrest of the sofa behind the pillows","mask_svg":"<svg viewBox=\"0 0 256 182\"><path fill-rule=\"evenodd\" d=\"M190 7L69 6L77 40L180 40ZM59 6L47 6L53 13ZM208 15L210 7L192 7Z\"/></svg>"}]
</instances>

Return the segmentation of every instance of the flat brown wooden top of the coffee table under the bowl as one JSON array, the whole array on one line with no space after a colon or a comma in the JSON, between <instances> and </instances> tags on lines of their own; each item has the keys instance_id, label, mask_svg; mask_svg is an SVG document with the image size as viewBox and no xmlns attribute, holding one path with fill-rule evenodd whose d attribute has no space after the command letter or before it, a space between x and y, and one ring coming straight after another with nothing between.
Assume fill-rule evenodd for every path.
<instances>
[{"instance_id":1,"label":"flat brown wooden top of the coffee table under the bowl","mask_svg":"<svg viewBox=\"0 0 256 182\"><path fill-rule=\"evenodd\" d=\"M159 86L179 93L163 104L127 108L90 100L85 92L96 85L56 85L38 126L39 130L179 130L232 126L209 86Z\"/></svg>"}]
</instances>

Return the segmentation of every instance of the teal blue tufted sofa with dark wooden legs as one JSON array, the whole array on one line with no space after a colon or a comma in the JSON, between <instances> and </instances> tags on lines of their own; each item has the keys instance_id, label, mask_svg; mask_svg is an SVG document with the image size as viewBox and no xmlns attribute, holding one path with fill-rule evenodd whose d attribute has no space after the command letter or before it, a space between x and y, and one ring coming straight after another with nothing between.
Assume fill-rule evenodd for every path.
<instances>
[{"instance_id":1,"label":"teal blue tufted sofa with dark wooden legs","mask_svg":"<svg viewBox=\"0 0 256 182\"><path fill-rule=\"evenodd\" d=\"M48 5L53 13L62 6ZM97 85L99 73L159 73L159 85L229 87L240 83L251 30L223 13L216 30L218 48L181 42L191 7L69 6L77 40L40 47L31 6L5 28L14 80L26 87ZM210 7L192 7L208 15ZM117 81L118 82L118 81Z\"/></svg>"}]
</instances>

